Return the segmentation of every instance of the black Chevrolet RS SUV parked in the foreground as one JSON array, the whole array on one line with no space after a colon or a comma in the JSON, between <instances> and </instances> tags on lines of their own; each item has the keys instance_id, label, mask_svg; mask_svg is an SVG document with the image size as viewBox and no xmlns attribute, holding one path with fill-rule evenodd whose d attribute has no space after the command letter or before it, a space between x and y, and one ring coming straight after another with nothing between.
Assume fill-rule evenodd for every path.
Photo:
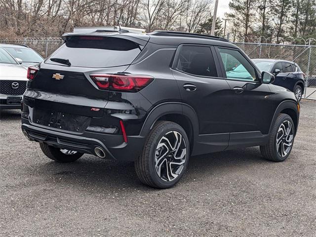
<instances>
[{"instance_id":1,"label":"black Chevrolet RS SUV parked in the foreground","mask_svg":"<svg viewBox=\"0 0 316 237\"><path fill-rule=\"evenodd\" d=\"M269 160L289 156L294 94L227 40L165 31L63 39L29 68L23 98L23 133L48 158L135 161L141 182L169 188L190 156L252 146ZM239 65L246 74L232 73Z\"/></svg>"}]
</instances>

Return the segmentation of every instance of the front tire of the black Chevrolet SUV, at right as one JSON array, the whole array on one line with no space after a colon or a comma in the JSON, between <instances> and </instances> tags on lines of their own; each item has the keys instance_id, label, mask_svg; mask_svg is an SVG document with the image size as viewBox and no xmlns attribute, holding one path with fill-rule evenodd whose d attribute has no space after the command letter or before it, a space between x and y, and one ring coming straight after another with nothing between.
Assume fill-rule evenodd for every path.
<instances>
[{"instance_id":1,"label":"front tire of the black Chevrolet SUV, at right","mask_svg":"<svg viewBox=\"0 0 316 237\"><path fill-rule=\"evenodd\" d=\"M280 138L281 137L280 134L282 134L282 131L279 131L279 129L281 129L280 126L283 123L288 124L286 121L291 123L290 133L292 133L292 141L291 141L291 146L286 147L286 149L289 148L289 150L286 152L286 155L281 156L280 153L282 154L282 151L280 152L280 149L282 149L282 148L279 147L279 149L277 149L276 141L277 141L277 136L279 136L279 138ZM276 118L275 124L273 125L272 132L269 135L269 142L265 146L260 146L261 155L264 158L271 160L271 161L280 162L280 161L285 160L286 158L288 158L288 156L290 155L290 153L292 151L293 143L294 143L294 133L295 133L295 126L294 126L292 118L287 114L279 114L279 116ZM291 134L289 134L289 136L290 135ZM283 139L278 139L278 140L283 140ZM287 142L287 140L285 140L285 142ZM282 144L281 144L281 146L282 146Z\"/></svg>"}]
</instances>

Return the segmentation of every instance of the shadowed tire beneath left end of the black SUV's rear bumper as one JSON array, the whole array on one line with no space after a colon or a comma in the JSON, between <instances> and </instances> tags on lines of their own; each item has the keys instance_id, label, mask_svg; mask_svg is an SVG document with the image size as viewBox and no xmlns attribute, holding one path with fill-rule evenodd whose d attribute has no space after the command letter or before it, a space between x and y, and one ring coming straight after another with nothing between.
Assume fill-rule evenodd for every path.
<instances>
[{"instance_id":1,"label":"shadowed tire beneath left end of the black SUV's rear bumper","mask_svg":"<svg viewBox=\"0 0 316 237\"><path fill-rule=\"evenodd\" d=\"M60 163L74 162L83 155L78 152L72 155L66 155L60 151L60 148L52 147L42 142L40 142L40 149L46 157Z\"/></svg>"}]
</instances>

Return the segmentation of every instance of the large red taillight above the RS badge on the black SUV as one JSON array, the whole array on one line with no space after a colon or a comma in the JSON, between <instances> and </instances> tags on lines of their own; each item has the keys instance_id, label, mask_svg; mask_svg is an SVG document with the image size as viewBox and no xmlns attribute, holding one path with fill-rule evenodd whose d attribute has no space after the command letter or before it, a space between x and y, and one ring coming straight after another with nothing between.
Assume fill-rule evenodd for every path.
<instances>
[{"instance_id":1,"label":"large red taillight above the RS badge on the black SUV","mask_svg":"<svg viewBox=\"0 0 316 237\"><path fill-rule=\"evenodd\" d=\"M154 80L144 75L91 74L99 89L137 92Z\"/></svg>"}]
</instances>

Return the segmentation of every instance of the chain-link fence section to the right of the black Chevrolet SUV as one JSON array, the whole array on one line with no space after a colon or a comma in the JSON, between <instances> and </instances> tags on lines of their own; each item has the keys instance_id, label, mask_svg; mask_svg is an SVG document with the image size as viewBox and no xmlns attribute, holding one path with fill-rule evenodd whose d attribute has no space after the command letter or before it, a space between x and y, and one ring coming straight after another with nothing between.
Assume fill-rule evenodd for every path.
<instances>
[{"instance_id":1,"label":"chain-link fence section to the right of the black Chevrolet SUV","mask_svg":"<svg viewBox=\"0 0 316 237\"><path fill-rule=\"evenodd\" d=\"M250 58L282 59L295 62L305 74L303 98L316 100L316 46L235 42Z\"/></svg>"}]
</instances>

